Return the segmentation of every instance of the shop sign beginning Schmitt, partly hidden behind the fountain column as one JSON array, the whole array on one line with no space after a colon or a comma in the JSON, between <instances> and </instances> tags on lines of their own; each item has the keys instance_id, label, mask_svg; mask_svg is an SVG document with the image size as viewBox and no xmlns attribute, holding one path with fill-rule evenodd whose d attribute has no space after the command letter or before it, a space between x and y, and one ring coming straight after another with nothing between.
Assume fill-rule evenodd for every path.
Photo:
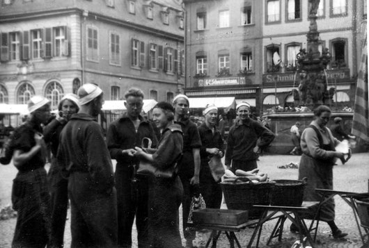
<instances>
[{"instance_id":1,"label":"shop sign beginning Schmitt, partly hidden behind the fountain column","mask_svg":"<svg viewBox=\"0 0 369 248\"><path fill-rule=\"evenodd\" d=\"M340 69L340 70L326 70L328 79L345 79L350 78L350 69ZM296 78L295 78L296 75ZM263 74L262 81L265 83L274 82L294 82L299 80L299 74L295 73L274 73L274 74Z\"/></svg>"}]
</instances>

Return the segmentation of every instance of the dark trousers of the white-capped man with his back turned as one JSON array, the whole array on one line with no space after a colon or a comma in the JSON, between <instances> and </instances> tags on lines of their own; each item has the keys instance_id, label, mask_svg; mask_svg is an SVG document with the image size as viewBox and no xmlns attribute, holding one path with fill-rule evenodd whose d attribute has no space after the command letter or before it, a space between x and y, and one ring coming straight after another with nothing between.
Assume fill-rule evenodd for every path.
<instances>
[{"instance_id":1,"label":"dark trousers of the white-capped man with his back turned","mask_svg":"<svg viewBox=\"0 0 369 248\"><path fill-rule=\"evenodd\" d=\"M68 181L72 248L117 247L116 189L102 190L88 173L72 172Z\"/></svg>"}]
</instances>

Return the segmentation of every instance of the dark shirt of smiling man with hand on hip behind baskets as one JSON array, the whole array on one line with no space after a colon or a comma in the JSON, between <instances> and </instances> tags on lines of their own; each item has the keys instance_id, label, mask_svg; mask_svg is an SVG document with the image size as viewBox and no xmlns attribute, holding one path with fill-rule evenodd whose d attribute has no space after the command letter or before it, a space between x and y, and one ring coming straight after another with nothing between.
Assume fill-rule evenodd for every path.
<instances>
[{"instance_id":1,"label":"dark shirt of smiling man with hand on hip behind baskets","mask_svg":"<svg viewBox=\"0 0 369 248\"><path fill-rule=\"evenodd\" d=\"M226 165L231 160L256 160L258 154L253 148L258 145L260 149L266 148L274 140L274 133L261 122L248 119L242 124L240 119L230 128L226 149Z\"/></svg>"}]
</instances>

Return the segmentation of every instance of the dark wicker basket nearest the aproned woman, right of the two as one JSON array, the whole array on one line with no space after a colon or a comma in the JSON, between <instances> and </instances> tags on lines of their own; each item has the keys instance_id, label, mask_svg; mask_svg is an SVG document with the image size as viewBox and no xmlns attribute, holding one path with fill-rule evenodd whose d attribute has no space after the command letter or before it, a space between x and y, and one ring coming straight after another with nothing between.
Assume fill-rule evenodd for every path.
<instances>
[{"instance_id":1,"label":"dark wicker basket nearest the aproned woman, right of the two","mask_svg":"<svg viewBox=\"0 0 369 248\"><path fill-rule=\"evenodd\" d=\"M301 206L304 198L306 179L274 181L276 182L276 185L272 190L270 205Z\"/></svg>"}]
</instances>

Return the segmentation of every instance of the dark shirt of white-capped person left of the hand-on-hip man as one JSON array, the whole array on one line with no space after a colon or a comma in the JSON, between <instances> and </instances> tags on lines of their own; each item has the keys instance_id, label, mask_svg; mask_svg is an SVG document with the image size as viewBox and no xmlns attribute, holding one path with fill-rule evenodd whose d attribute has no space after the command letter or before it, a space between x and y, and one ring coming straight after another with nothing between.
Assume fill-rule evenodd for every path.
<instances>
[{"instance_id":1,"label":"dark shirt of white-capped person left of the hand-on-hip man","mask_svg":"<svg viewBox=\"0 0 369 248\"><path fill-rule=\"evenodd\" d=\"M215 129L213 134L212 129L209 129L206 124L203 123L198 127L198 133L200 133L201 144L203 144L200 149L201 160L210 160L210 154L206 152L207 148L218 148L224 154L223 139L217 129Z\"/></svg>"}]
</instances>

